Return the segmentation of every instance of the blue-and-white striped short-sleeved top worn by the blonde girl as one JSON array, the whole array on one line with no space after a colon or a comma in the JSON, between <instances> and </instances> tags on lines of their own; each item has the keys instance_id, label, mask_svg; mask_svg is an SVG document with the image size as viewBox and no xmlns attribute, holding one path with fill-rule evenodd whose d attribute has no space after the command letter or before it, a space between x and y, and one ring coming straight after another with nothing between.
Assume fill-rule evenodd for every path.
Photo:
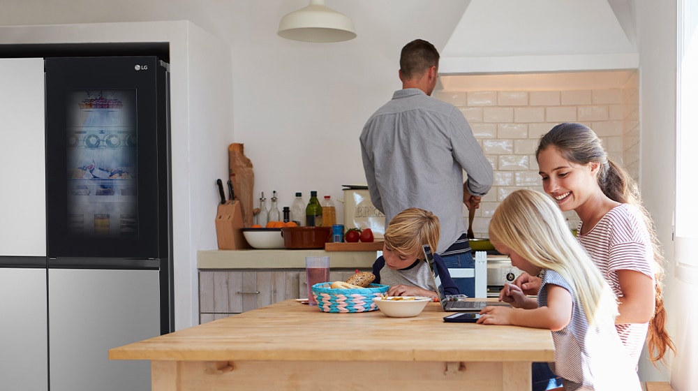
<instances>
[{"instance_id":1,"label":"blue-and-white striped short-sleeved top worn by the blonde girl","mask_svg":"<svg viewBox=\"0 0 698 391\"><path fill-rule=\"evenodd\" d=\"M613 320L591 327L581 302L563 276L546 270L538 291L538 307L547 307L550 285L565 288L572 295L570 323L552 332L555 362L551 370L562 378L565 391L640 390L634 362L623 348Z\"/></svg>"}]
</instances>

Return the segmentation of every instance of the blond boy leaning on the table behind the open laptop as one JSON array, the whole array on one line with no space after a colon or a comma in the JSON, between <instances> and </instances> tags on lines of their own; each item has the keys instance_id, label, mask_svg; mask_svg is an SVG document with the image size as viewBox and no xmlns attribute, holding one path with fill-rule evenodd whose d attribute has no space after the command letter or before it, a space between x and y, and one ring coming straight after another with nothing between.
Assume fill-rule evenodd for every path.
<instances>
[{"instance_id":1,"label":"blond boy leaning on the table behind the open laptop","mask_svg":"<svg viewBox=\"0 0 698 391\"><path fill-rule=\"evenodd\" d=\"M434 251L436 269L447 295L458 295L456 283L443 259L436 253L439 239L438 217L424 209L405 209L388 224L383 239L383 256L373 263L373 283L389 285L389 296L425 296L436 299L429 265L424 262L422 245Z\"/></svg>"}]
</instances>

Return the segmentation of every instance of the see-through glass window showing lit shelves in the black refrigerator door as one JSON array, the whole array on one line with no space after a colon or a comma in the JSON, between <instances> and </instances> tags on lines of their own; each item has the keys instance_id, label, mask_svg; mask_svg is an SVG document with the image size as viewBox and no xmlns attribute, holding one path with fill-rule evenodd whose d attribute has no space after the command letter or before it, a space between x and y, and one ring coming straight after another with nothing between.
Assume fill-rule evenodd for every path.
<instances>
[{"instance_id":1,"label":"see-through glass window showing lit shelves in the black refrigerator door","mask_svg":"<svg viewBox=\"0 0 698 391\"><path fill-rule=\"evenodd\" d=\"M68 91L68 230L138 237L135 89Z\"/></svg>"}]
</instances>

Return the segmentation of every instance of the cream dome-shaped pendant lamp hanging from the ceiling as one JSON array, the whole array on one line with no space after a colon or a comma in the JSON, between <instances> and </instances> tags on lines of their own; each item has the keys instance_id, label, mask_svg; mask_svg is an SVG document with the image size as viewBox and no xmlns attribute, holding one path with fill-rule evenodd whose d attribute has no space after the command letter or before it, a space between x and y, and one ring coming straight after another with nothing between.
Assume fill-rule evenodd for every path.
<instances>
[{"instance_id":1,"label":"cream dome-shaped pendant lamp hanging from the ceiling","mask_svg":"<svg viewBox=\"0 0 698 391\"><path fill-rule=\"evenodd\" d=\"M286 14L277 34L305 42L340 42L356 37L349 17L327 8L324 0L311 0L306 8Z\"/></svg>"}]
</instances>

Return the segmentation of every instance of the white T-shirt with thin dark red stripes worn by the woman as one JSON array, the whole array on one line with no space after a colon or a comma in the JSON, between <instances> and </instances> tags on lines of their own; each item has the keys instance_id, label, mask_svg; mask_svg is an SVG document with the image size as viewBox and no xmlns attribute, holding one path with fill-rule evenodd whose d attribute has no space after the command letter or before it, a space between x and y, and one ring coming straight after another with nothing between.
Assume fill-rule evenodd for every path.
<instances>
[{"instance_id":1,"label":"white T-shirt with thin dark red stripes worn by the woman","mask_svg":"<svg viewBox=\"0 0 698 391\"><path fill-rule=\"evenodd\" d=\"M582 223L577 232L581 233ZM595 227L577 237L616 296L622 297L618 270L634 270L654 279L652 240L642 214L632 205L621 204L605 214ZM630 357L637 362L647 336L648 323L616 325Z\"/></svg>"}]
</instances>

